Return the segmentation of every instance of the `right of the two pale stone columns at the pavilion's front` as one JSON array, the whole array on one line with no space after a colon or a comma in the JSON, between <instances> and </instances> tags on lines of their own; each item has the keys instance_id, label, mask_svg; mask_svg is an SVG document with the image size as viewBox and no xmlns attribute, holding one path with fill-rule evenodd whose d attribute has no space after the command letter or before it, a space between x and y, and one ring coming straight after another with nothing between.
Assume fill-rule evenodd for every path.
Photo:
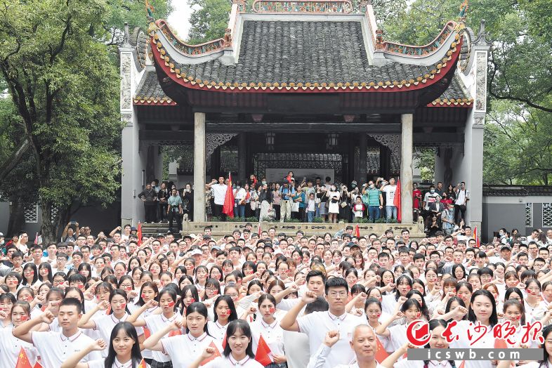
<instances>
[{"instance_id":1,"label":"right of the two pale stone columns at the pavilion's front","mask_svg":"<svg viewBox=\"0 0 552 368\"><path fill-rule=\"evenodd\" d=\"M412 223L412 114L401 115L400 145L400 216L402 223Z\"/></svg>"}]
</instances>

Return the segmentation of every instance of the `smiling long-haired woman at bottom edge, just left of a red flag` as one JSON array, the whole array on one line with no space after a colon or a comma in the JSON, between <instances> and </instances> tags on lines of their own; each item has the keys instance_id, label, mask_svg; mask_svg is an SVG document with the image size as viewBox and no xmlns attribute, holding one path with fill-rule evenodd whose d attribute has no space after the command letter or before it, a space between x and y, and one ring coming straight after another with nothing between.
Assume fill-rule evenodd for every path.
<instances>
[{"instance_id":1,"label":"smiling long-haired woman at bottom edge, just left of a red flag","mask_svg":"<svg viewBox=\"0 0 552 368\"><path fill-rule=\"evenodd\" d=\"M244 320L235 320L228 325L226 335L226 346L223 356L220 354L214 360L202 365L204 368L263 368L263 364L255 360L253 353L253 339L251 328ZM192 362L188 368L198 368L204 360L212 359L216 349L207 347L202 355Z\"/></svg>"}]
</instances>

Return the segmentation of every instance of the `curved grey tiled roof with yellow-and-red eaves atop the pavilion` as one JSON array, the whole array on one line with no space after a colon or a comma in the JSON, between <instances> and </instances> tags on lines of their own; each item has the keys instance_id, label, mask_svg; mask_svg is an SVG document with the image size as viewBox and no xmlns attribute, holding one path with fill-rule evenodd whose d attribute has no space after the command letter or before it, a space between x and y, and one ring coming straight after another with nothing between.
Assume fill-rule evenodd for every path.
<instances>
[{"instance_id":1,"label":"curved grey tiled roof with yellow-and-red eaves atop the pavilion","mask_svg":"<svg viewBox=\"0 0 552 368\"><path fill-rule=\"evenodd\" d=\"M158 21L159 24L161 24ZM219 91L405 91L440 79L454 67L459 39L434 65L370 65L362 24L355 21L244 20L237 63L218 58L180 64L152 33L154 57L164 72L188 88Z\"/></svg>"}]
</instances>

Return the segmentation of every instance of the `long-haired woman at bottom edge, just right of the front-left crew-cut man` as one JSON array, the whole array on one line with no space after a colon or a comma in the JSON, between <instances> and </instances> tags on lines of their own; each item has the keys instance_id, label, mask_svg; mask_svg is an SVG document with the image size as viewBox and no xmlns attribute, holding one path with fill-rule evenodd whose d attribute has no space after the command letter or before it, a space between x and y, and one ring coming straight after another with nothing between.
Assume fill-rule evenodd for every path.
<instances>
[{"instance_id":1,"label":"long-haired woman at bottom edge, just right of the front-left crew-cut man","mask_svg":"<svg viewBox=\"0 0 552 368\"><path fill-rule=\"evenodd\" d=\"M142 361L136 329L130 322L119 322L113 327L110 336L110 346L105 360L80 362L91 351L105 350L106 348L107 343L103 339L98 339L87 348L70 355L61 364L60 368L131 368L138 367L138 364Z\"/></svg>"}]
</instances>

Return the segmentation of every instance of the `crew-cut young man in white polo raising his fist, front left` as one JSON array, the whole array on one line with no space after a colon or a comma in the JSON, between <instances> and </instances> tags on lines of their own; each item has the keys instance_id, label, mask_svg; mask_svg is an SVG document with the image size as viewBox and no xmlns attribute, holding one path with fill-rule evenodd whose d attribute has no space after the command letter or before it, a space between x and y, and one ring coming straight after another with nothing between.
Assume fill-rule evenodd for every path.
<instances>
[{"instance_id":1,"label":"crew-cut young man in white polo raising his fist, front left","mask_svg":"<svg viewBox=\"0 0 552 368\"><path fill-rule=\"evenodd\" d=\"M31 331L37 324L43 322L51 324L54 316L49 310L46 310L38 317L15 327L13 336L32 343L37 348L44 368L58 368L71 354L77 353L93 343L93 340L77 327L82 316L81 308L81 303L76 298L63 299L58 313L60 332ZM94 359L101 359L98 351L88 353L82 361L88 362L88 360Z\"/></svg>"}]
</instances>

